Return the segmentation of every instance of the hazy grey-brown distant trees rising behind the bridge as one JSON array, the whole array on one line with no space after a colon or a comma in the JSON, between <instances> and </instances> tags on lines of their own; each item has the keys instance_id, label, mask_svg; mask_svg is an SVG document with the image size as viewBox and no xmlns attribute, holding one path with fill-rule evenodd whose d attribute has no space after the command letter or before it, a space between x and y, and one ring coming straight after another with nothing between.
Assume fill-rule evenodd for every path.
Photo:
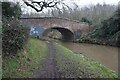
<instances>
[{"instance_id":1,"label":"hazy grey-brown distant trees rising behind the bridge","mask_svg":"<svg viewBox=\"0 0 120 80\"><path fill-rule=\"evenodd\" d=\"M29 16L48 16L48 17L62 17L62 18L69 18L73 20L81 21L82 18L86 18L90 21L92 25L98 25L101 21L109 18L117 9L115 5L109 4L97 4L97 5L90 5L88 7L78 7L74 3L73 8L69 8L66 6L61 6L61 9L58 8L51 8L48 12L45 13L31 13Z\"/></svg>"}]
</instances>

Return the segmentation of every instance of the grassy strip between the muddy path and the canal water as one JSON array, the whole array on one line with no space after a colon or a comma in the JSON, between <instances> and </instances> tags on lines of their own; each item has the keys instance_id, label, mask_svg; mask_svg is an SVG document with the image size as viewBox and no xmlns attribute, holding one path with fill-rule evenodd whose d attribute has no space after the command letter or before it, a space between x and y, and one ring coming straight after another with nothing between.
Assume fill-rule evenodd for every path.
<instances>
[{"instance_id":1,"label":"grassy strip between the muddy path and the canal water","mask_svg":"<svg viewBox=\"0 0 120 80\"><path fill-rule=\"evenodd\" d=\"M55 44L57 49L56 61L59 70L79 78L117 78L117 74L100 63L89 59L82 54L73 53L71 50Z\"/></svg>"}]
</instances>

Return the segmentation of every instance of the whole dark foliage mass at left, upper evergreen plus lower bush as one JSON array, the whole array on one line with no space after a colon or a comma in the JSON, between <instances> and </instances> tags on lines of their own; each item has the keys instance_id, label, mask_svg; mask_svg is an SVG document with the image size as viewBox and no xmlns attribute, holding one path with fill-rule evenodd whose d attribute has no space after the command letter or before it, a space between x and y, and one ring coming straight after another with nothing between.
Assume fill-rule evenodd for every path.
<instances>
[{"instance_id":1,"label":"whole dark foliage mass at left, upper evergreen plus lower bush","mask_svg":"<svg viewBox=\"0 0 120 80\"><path fill-rule=\"evenodd\" d=\"M10 6L13 4L14 6ZM24 27L18 19L21 14L18 4L2 3L2 53L4 56L16 55L28 39L28 28Z\"/></svg>"}]
</instances>

